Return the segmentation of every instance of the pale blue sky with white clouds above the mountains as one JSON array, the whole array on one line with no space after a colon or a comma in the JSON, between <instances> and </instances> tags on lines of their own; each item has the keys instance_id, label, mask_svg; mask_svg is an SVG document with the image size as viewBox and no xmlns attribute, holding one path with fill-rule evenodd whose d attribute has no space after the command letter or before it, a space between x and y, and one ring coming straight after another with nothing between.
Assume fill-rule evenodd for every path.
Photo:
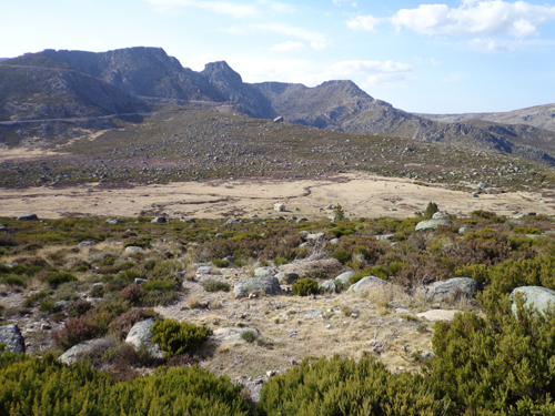
<instances>
[{"instance_id":1,"label":"pale blue sky with white clouds above the mountains","mask_svg":"<svg viewBox=\"0 0 555 416\"><path fill-rule=\"evenodd\" d=\"M0 0L0 57L159 47L245 82L352 80L422 113L555 102L555 0Z\"/></svg>"}]
</instances>

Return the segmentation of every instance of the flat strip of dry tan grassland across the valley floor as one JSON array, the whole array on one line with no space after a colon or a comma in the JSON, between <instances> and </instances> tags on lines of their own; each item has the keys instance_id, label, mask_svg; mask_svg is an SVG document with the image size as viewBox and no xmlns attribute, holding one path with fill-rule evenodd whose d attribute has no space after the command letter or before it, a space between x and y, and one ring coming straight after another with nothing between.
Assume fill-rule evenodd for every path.
<instances>
[{"instance_id":1,"label":"flat strip of dry tan grassland across the valley floor","mask_svg":"<svg viewBox=\"0 0 555 416\"><path fill-rule=\"evenodd\" d=\"M320 180L248 179L235 181L180 182L108 190L97 183L65 189L0 189L0 216L36 213L40 217L65 215L137 216L141 212L172 217L275 216L273 204L284 203L284 217L307 219L331 215L321 210L340 203L347 215L407 217L424 210L430 201L457 215L474 210L509 215L517 212L555 215L555 196L539 192L516 192L473 197L466 192L421 186L410 180L340 174Z\"/></svg>"}]
</instances>

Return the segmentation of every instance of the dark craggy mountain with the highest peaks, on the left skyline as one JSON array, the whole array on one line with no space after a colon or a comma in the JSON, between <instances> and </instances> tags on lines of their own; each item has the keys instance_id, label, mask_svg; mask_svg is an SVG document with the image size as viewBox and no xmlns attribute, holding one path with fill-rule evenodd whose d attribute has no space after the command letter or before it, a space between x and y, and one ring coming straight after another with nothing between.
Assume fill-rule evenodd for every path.
<instances>
[{"instance_id":1,"label":"dark craggy mountain with the highest peaks, on the left skyline","mask_svg":"<svg viewBox=\"0 0 555 416\"><path fill-rule=\"evenodd\" d=\"M44 60L72 68L140 97L185 101L233 101L251 116L274 115L269 100L225 62L208 64L204 71L183 68L161 48L127 48L108 52L56 51L27 53L4 63L44 65Z\"/></svg>"}]
</instances>

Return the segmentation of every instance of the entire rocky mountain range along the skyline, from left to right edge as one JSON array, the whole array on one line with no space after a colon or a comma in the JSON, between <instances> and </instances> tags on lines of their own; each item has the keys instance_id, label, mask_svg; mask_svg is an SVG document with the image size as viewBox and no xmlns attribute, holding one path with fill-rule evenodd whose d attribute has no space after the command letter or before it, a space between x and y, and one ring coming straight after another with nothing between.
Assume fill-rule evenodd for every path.
<instances>
[{"instance_id":1,"label":"entire rocky mountain range along the skyline, from left to right edge","mask_svg":"<svg viewBox=\"0 0 555 416\"><path fill-rule=\"evenodd\" d=\"M254 118L281 115L320 129L443 142L555 165L555 104L507 113L416 114L372 98L352 81L315 88L246 83L224 61L196 72L161 48L44 50L0 63L2 128L21 131L21 123L31 120L147 114L164 102L231 104L234 112Z\"/></svg>"}]
</instances>

